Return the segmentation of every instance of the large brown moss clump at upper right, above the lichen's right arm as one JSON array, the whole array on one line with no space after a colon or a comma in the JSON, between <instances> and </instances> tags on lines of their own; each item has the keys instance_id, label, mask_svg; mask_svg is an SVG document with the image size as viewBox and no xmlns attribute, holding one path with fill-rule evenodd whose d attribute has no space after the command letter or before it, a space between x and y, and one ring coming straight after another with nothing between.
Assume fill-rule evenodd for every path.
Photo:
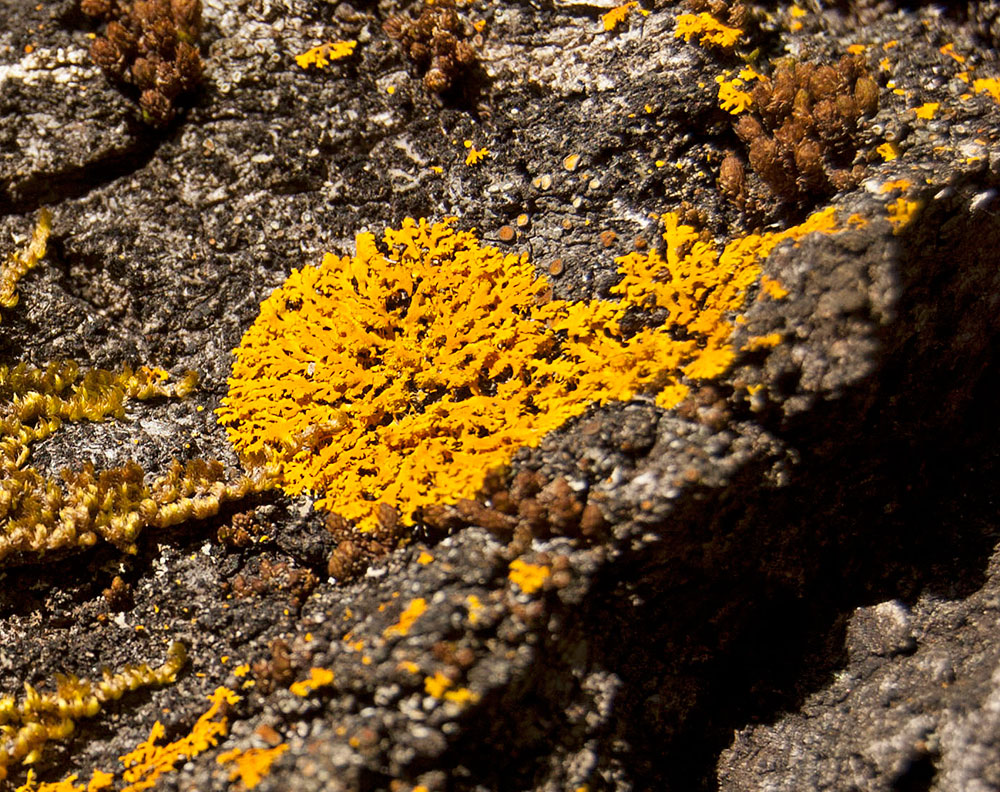
<instances>
[{"instance_id":1,"label":"large brown moss clump at upper right, above the lichen's right arm","mask_svg":"<svg viewBox=\"0 0 1000 792\"><path fill-rule=\"evenodd\" d=\"M768 193L804 203L858 184L858 122L878 109L878 87L863 58L845 55L833 66L786 61L750 95L752 109L735 131L757 178L747 179L743 158L730 153L719 187L732 200L743 205Z\"/></svg>"}]
</instances>

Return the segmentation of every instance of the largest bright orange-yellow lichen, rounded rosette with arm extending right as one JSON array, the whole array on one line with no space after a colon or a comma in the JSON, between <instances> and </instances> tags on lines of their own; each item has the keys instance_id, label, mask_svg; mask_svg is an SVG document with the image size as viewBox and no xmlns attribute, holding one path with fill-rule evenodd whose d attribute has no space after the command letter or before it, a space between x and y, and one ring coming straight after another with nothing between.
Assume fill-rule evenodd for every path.
<instances>
[{"instance_id":1,"label":"largest bright orange-yellow lichen, rounded rosette with arm extending right","mask_svg":"<svg viewBox=\"0 0 1000 792\"><path fill-rule=\"evenodd\" d=\"M218 414L244 463L287 493L379 525L473 497L486 472L589 404L656 394L724 373L731 316L785 240L837 228L825 210L786 231L717 247L663 215L665 250L617 259L618 299L551 299L526 255L440 223L357 236L357 252L295 270L235 351ZM626 315L657 326L626 332Z\"/></svg>"}]
</instances>

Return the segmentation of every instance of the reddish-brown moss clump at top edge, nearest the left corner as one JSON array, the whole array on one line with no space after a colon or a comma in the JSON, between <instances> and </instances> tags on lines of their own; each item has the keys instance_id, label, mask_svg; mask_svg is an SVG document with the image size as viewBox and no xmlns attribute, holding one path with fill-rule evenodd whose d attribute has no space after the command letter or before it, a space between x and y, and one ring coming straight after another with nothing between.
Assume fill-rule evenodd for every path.
<instances>
[{"instance_id":1,"label":"reddish-brown moss clump at top edge, nearest the left corner","mask_svg":"<svg viewBox=\"0 0 1000 792\"><path fill-rule=\"evenodd\" d=\"M90 56L117 83L139 92L143 120L168 123L176 103L201 81L201 0L81 0L80 9L107 22Z\"/></svg>"}]
</instances>

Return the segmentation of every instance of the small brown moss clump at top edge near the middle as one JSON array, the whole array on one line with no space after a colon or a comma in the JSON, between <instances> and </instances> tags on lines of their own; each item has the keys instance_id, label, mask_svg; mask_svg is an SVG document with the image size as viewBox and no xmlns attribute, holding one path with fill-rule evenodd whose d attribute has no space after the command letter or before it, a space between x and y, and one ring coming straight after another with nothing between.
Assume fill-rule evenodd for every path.
<instances>
[{"instance_id":1,"label":"small brown moss clump at top edge near the middle","mask_svg":"<svg viewBox=\"0 0 1000 792\"><path fill-rule=\"evenodd\" d=\"M391 16L382 30L417 64L433 93L449 90L478 60L476 31L458 15L453 0L425 0L416 19Z\"/></svg>"}]
</instances>

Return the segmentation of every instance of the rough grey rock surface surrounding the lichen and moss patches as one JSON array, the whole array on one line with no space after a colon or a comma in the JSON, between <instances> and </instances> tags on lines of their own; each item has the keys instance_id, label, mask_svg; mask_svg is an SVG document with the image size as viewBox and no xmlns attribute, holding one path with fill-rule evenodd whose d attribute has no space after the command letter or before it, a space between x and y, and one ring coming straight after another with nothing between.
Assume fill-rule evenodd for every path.
<instances>
[{"instance_id":1,"label":"rough grey rock surface surrounding the lichen and moss patches","mask_svg":"<svg viewBox=\"0 0 1000 792\"><path fill-rule=\"evenodd\" d=\"M91 64L75 0L3 0L3 238L54 214L45 265L3 314L3 363L202 383L67 425L32 456L53 473L237 470L213 410L259 303L405 216L457 215L574 299L607 296L614 257L655 244L679 206L719 239L827 205L860 219L765 262L788 294L753 299L735 340L779 344L676 409L594 407L518 452L511 475L599 507L597 536L418 527L342 581L325 516L268 492L147 531L134 555L3 570L4 693L159 663L174 640L190 657L48 744L37 777L100 769L124 788L119 757L157 720L186 734L224 685L242 697L228 735L156 788L249 786L219 753L282 743L257 788L1000 786L1000 102L974 89L1000 75L1000 6L831 5L752 8L751 43L761 71L864 45L880 94L858 132L865 178L753 214L716 186L740 143L715 78L743 62L675 37L673 4L609 32L606 4L475 0L459 11L484 23L478 67L441 97L382 31L395 3L206 0L201 91L158 130ZM296 65L344 39L351 57ZM490 156L466 164L465 141ZM901 197L915 215L890 222ZM217 538L234 523L247 546ZM518 562L545 570L537 589ZM311 669L332 682L292 692Z\"/></svg>"}]
</instances>

